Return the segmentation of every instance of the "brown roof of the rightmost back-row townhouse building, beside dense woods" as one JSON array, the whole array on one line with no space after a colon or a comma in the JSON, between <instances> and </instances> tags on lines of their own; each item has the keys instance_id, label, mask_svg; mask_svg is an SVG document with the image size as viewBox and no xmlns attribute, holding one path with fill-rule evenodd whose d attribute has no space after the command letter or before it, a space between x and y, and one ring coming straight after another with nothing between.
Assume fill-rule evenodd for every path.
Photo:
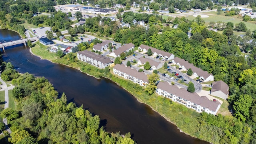
<instances>
[{"instance_id":1,"label":"brown roof of the rightmost back-row townhouse building, beside dense woods","mask_svg":"<svg viewBox=\"0 0 256 144\"><path fill-rule=\"evenodd\" d=\"M202 76L204 78L208 78L210 75L207 71L203 71L200 68L194 66L194 64L189 63L188 61L175 57L174 62L179 63L181 66L184 66L186 69L191 68L192 72L196 72L198 76Z\"/></svg>"}]
</instances>

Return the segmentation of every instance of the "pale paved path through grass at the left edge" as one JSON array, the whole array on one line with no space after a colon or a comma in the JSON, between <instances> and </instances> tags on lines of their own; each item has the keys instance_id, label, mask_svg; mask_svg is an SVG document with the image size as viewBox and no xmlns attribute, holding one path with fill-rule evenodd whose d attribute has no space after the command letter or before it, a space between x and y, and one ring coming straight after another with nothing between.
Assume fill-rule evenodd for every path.
<instances>
[{"instance_id":1,"label":"pale paved path through grass at the left edge","mask_svg":"<svg viewBox=\"0 0 256 144\"><path fill-rule=\"evenodd\" d=\"M6 82L4 82L4 80L2 80L2 78L0 78L0 82L2 82L2 89L0 91L4 90L4 100L5 100L5 104L4 104L4 109L9 107L9 94L8 94L8 90L12 90L14 88L14 86L12 86L12 84L10 84L11 86L7 86ZM10 128L8 127L8 122L7 122L7 118L3 119L3 122L6 126L6 130L7 132L12 133L12 131L10 130Z\"/></svg>"}]
</instances>

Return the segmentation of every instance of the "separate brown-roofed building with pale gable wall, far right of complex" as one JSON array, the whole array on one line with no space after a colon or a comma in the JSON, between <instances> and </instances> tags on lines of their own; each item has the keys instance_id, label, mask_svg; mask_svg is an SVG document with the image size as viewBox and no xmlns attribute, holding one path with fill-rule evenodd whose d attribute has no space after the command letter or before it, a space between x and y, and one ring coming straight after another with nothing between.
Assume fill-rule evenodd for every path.
<instances>
[{"instance_id":1,"label":"separate brown-roofed building with pale gable wall, far right of complex","mask_svg":"<svg viewBox=\"0 0 256 144\"><path fill-rule=\"evenodd\" d=\"M210 94L226 100L229 94L228 89L228 85L222 80L220 80L212 83L212 89L210 90Z\"/></svg>"}]
</instances>

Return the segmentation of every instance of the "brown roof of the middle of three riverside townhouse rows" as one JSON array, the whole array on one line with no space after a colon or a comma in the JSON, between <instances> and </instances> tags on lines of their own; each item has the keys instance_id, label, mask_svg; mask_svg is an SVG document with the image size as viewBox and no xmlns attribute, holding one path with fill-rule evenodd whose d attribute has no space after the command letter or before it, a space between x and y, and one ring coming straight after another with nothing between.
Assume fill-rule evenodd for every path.
<instances>
[{"instance_id":1,"label":"brown roof of the middle of three riverside townhouse rows","mask_svg":"<svg viewBox=\"0 0 256 144\"><path fill-rule=\"evenodd\" d=\"M138 78L139 80L143 80L144 82L148 82L148 77L144 72L138 72L135 68L131 69L130 67L124 66L124 64L116 64L114 66L116 70L120 70L120 72L124 72L130 76Z\"/></svg>"}]
</instances>

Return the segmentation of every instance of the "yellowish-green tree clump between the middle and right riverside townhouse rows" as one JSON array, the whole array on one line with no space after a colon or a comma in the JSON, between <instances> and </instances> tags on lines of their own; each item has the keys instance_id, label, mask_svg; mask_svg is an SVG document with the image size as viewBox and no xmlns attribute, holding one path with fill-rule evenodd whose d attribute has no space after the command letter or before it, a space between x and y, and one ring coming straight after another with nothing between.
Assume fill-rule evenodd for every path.
<instances>
[{"instance_id":1,"label":"yellowish-green tree clump between the middle and right riverside townhouse rows","mask_svg":"<svg viewBox=\"0 0 256 144\"><path fill-rule=\"evenodd\" d=\"M156 91L156 82L159 80L159 75L152 73L148 74L148 85L145 90L149 95L152 95Z\"/></svg>"}]
</instances>

